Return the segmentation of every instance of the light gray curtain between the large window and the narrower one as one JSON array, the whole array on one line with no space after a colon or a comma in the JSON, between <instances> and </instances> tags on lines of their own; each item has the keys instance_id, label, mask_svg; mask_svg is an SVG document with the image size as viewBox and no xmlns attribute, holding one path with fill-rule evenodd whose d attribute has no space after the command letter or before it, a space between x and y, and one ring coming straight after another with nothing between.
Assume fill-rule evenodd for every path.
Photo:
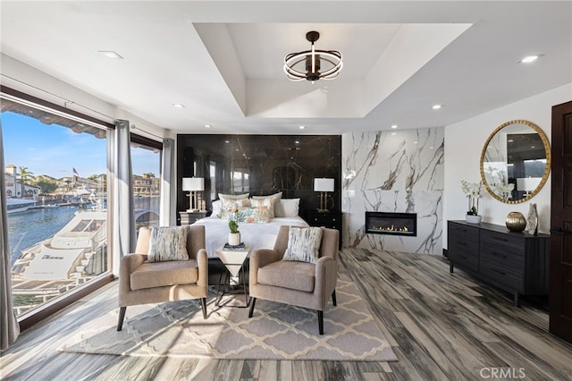
<instances>
[{"instance_id":1,"label":"light gray curtain between the large window and the narrower one","mask_svg":"<svg viewBox=\"0 0 572 381\"><path fill-rule=\"evenodd\" d=\"M114 274L118 275L119 258L135 250L136 244L129 121L116 121L115 130L108 138L107 169L111 186L107 194L112 197L108 197L107 207L111 211L112 239L107 244L113 248Z\"/></svg>"}]
</instances>

